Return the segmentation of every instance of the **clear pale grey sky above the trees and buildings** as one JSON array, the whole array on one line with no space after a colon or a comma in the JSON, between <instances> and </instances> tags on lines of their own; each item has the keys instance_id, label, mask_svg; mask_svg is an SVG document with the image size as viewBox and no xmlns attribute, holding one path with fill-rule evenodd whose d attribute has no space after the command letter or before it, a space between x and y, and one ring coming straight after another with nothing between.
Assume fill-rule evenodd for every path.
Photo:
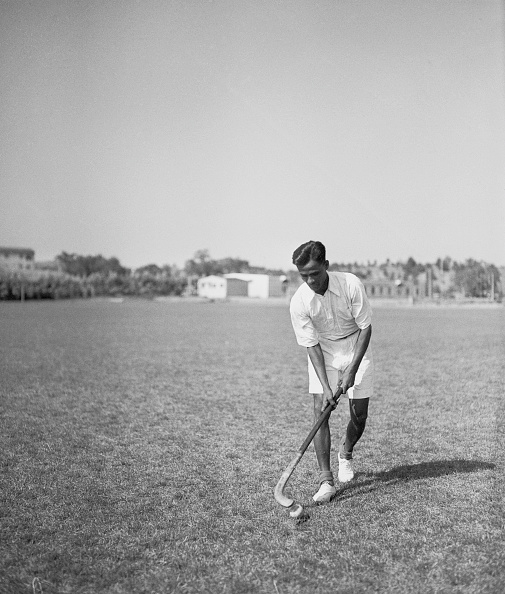
<instances>
[{"instance_id":1,"label":"clear pale grey sky above the trees and buildings","mask_svg":"<svg viewBox=\"0 0 505 594\"><path fill-rule=\"evenodd\" d=\"M505 264L498 0L0 0L0 245Z\"/></svg>"}]
</instances>

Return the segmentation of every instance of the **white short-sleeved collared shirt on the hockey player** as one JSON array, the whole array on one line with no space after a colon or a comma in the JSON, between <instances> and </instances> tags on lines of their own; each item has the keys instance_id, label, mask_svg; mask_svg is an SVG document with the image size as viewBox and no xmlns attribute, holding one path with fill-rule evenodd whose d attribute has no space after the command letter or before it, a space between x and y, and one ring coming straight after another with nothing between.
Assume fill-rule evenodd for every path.
<instances>
[{"instance_id":1,"label":"white short-sleeved collared shirt on the hockey player","mask_svg":"<svg viewBox=\"0 0 505 594\"><path fill-rule=\"evenodd\" d=\"M339 340L372 323L372 308L359 278L350 272L328 272L328 276L324 295L303 283L291 299L291 323L300 346Z\"/></svg>"}]
</instances>

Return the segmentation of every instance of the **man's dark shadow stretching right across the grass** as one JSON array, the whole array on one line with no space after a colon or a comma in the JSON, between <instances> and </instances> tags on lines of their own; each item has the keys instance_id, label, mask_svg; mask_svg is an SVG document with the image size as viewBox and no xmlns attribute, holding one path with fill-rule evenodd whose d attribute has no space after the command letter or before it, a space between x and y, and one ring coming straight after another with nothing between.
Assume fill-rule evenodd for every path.
<instances>
[{"instance_id":1,"label":"man's dark shadow stretching right across the grass","mask_svg":"<svg viewBox=\"0 0 505 594\"><path fill-rule=\"evenodd\" d=\"M481 470L494 470L495 464L480 460L434 460L433 462L419 462L418 464L402 464L391 470L380 472L357 472L355 480L348 484L339 484L337 494L332 501L343 501L356 494L370 493L382 485L395 485L408 481L427 478L438 478L450 474L464 474ZM312 505L314 507L317 504Z\"/></svg>"}]
</instances>

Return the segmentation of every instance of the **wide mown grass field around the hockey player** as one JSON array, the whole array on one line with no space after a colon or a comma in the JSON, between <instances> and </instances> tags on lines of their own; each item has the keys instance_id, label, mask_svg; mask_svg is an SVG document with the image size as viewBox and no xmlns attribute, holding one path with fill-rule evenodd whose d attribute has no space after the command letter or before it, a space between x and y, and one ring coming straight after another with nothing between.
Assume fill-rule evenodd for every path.
<instances>
[{"instance_id":1,"label":"wide mown grass field around the hockey player","mask_svg":"<svg viewBox=\"0 0 505 594\"><path fill-rule=\"evenodd\" d=\"M311 505L309 449L295 522L272 491L312 417L285 306L0 304L0 592L503 592L505 310L373 328L356 479Z\"/></svg>"}]
</instances>

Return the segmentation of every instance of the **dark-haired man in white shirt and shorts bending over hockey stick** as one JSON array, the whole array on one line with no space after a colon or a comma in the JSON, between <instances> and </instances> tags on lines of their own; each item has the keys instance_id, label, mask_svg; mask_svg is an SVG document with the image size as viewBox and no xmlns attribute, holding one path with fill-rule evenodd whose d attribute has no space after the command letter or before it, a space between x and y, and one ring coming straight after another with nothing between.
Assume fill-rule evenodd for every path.
<instances>
[{"instance_id":1,"label":"dark-haired man in white shirt and shorts bending over hockey stick","mask_svg":"<svg viewBox=\"0 0 505 594\"><path fill-rule=\"evenodd\" d=\"M372 310L365 288L348 272L328 272L326 248L320 241L308 241L293 252L293 264L304 283L290 304L291 322L299 345L308 354L309 392L314 415L330 404L339 387L349 397L350 420L338 452L338 480L354 478L352 454L363 435L368 402L373 393L373 360L369 347ZM314 438L319 465L319 489L313 499L325 503L335 495L330 466L328 421Z\"/></svg>"}]
</instances>

